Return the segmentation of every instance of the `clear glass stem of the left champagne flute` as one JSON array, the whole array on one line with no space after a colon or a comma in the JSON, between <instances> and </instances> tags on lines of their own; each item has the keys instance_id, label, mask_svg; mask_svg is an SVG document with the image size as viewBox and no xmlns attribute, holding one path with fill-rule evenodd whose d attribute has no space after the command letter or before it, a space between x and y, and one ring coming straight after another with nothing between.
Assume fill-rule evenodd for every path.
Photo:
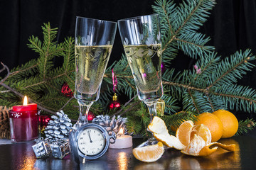
<instances>
[{"instance_id":1,"label":"clear glass stem of the left champagne flute","mask_svg":"<svg viewBox=\"0 0 256 170\"><path fill-rule=\"evenodd\" d=\"M85 125L88 123L87 116L90 110L90 106L92 106L92 103L93 101L78 100L80 114L79 114L78 121L75 123L73 128L77 129L81 125Z\"/></svg>"}]
</instances>

